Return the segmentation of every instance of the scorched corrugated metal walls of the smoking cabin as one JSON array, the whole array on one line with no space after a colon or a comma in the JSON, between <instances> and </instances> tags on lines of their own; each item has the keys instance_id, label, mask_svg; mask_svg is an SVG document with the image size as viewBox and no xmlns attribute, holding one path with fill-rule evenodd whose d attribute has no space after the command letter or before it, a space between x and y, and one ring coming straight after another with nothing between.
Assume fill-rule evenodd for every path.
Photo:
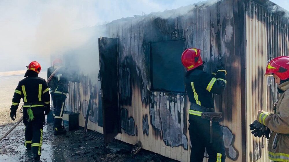
<instances>
[{"instance_id":1,"label":"scorched corrugated metal walls of the smoking cabin","mask_svg":"<svg viewBox=\"0 0 289 162\"><path fill-rule=\"evenodd\" d=\"M173 11L162 15L170 12ZM185 39L185 48L203 50L205 71L210 73L220 61L227 69L227 88L222 95L214 96L216 110L223 113L226 161L268 161L266 140L253 138L248 125L259 108L270 111L277 100L273 79L267 80L263 74L268 60L288 55L288 28L281 17L250 0L199 5L177 17L161 18L158 14L123 18L101 27L108 31L103 36L119 39L122 133L116 138L130 144L141 141L146 150L189 161L192 144L188 132L188 98L151 91L148 61L150 42ZM99 64L98 60L95 62ZM88 129L103 133L98 70L82 74L80 83L70 84L66 110L80 113L79 125L84 126L92 92Z\"/></svg>"}]
</instances>

